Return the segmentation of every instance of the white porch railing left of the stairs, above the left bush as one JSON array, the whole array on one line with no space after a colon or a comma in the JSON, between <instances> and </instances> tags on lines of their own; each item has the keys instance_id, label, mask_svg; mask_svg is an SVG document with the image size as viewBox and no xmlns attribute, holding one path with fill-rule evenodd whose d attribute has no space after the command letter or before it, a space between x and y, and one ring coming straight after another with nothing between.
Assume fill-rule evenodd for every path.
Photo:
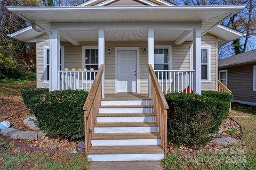
<instances>
[{"instance_id":1,"label":"white porch railing left of the stairs, above the left bush","mask_svg":"<svg viewBox=\"0 0 256 170\"><path fill-rule=\"evenodd\" d=\"M90 90L98 70L58 71L58 89Z\"/></svg>"}]
</instances>

